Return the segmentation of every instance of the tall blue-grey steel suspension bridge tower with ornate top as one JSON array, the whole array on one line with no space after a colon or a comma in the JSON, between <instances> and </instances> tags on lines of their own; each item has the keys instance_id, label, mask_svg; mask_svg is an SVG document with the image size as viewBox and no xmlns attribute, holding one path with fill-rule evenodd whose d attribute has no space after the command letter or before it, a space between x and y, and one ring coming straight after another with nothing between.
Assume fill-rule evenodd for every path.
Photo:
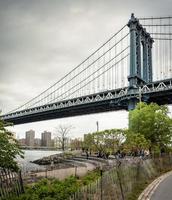
<instances>
[{"instance_id":1,"label":"tall blue-grey steel suspension bridge tower with ornate top","mask_svg":"<svg viewBox=\"0 0 172 200\"><path fill-rule=\"evenodd\" d=\"M130 29L130 71L128 81L131 95L128 110L132 110L139 101L134 95L132 98L132 94L139 93L139 87L143 84L152 82L152 44L154 41L133 13L127 25Z\"/></svg>"}]
</instances>

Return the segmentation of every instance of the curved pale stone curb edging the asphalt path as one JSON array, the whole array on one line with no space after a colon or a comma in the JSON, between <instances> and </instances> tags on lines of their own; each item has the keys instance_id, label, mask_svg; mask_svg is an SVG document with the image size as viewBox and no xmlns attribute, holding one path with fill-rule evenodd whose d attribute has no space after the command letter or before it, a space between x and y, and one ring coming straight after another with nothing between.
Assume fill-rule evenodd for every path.
<instances>
[{"instance_id":1,"label":"curved pale stone curb edging the asphalt path","mask_svg":"<svg viewBox=\"0 0 172 200\"><path fill-rule=\"evenodd\" d=\"M138 200L150 200L151 196L155 192L156 188L159 186L159 184L168 176L172 175L172 171L167 172L157 179L155 179L152 183L150 183L147 188L140 194Z\"/></svg>"}]
</instances>

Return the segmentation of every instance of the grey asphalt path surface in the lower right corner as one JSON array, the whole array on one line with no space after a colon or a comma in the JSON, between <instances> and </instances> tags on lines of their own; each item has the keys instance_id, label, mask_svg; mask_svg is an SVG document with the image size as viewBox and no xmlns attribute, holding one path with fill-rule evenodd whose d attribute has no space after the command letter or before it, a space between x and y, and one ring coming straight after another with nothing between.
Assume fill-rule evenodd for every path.
<instances>
[{"instance_id":1,"label":"grey asphalt path surface in the lower right corner","mask_svg":"<svg viewBox=\"0 0 172 200\"><path fill-rule=\"evenodd\" d=\"M159 184L151 200L172 200L172 175Z\"/></svg>"}]
</instances>

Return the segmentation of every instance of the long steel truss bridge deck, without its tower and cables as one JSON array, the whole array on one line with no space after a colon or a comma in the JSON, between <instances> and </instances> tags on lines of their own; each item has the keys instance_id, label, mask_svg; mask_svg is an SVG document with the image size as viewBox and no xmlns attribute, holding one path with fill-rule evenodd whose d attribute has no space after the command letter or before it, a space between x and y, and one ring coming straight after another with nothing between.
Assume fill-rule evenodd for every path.
<instances>
[{"instance_id":1,"label":"long steel truss bridge deck, without its tower and cables","mask_svg":"<svg viewBox=\"0 0 172 200\"><path fill-rule=\"evenodd\" d=\"M63 100L51 104L9 113L0 116L14 125L42 120L79 116L113 110L130 110L139 101L172 104L172 79L157 81L140 87L125 87L116 90Z\"/></svg>"}]
</instances>

